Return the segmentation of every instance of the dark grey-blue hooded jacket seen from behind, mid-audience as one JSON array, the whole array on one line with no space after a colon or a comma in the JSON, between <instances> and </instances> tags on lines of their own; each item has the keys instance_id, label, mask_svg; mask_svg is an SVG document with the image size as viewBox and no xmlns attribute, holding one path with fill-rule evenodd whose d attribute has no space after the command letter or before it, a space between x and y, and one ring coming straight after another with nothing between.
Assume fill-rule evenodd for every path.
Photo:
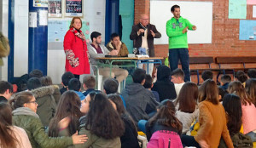
<instances>
[{"instance_id":1,"label":"dark grey-blue hooded jacket seen from behind, mid-audience","mask_svg":"<svg viewBox=\"0 0 256 148\"><path fill-rule=\"evenodd\" d=\"M126 85L121 95L125 99L126 110L136 125L139 120L148 120L148 114L156 111L156 106L159 105L154 94L140 83Z\"/></svg>"}]
</instances>

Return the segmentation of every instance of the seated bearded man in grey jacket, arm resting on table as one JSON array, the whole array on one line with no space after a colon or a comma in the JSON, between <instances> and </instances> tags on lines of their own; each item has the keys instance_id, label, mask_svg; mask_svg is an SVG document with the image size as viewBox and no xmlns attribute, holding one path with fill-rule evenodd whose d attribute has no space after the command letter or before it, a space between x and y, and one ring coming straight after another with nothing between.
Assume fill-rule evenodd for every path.
<instances>
[{"instance_id":1,"label":"seated bearded man in grey jacket, arm resting on table","mask_svg":"<svg viewBox=\"0 0 256 148\"><path fill-rule=\"evenodd\" d=\"M93 31L90 34L91 42L88 46L88 51L90 54L90 65L97 65L96 58L103 58L105 55L118 55L117 50L108 51L104 45L102 45L102 34L97 31ZM103 76L103 78L110 77L110 70L108 67L99 68L99 74ZM111 77L116 77L117 81L120 83L128 76L128 71L125 69L121 69L113 66L111 70Z\"/></svg>"}]
</instances>

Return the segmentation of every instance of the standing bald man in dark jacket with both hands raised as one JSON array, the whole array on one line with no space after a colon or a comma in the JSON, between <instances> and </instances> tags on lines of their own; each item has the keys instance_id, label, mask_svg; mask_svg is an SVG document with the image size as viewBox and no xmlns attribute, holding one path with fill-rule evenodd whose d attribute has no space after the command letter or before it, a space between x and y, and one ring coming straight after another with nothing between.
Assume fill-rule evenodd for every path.
<instances>
[{"instance_id":1,"label":"standing bald man in dark jacket with both hands raised","mask_svg":"<svg viewBox=\"0 0 256 148\"><path fill-rule=\"evenodd\" d=\"M134 41L134 48L146 48L146 52L149 57L154 57L154 38L160 38L161 34L156 30L155 26L149 24L147 14L141 14L140 22L137 25L132 26L130 39ZM137 53L139 51L137 50ZM148 74L152 75L153 63L148 65ZM143 65L139 65L139 68L143 68ZM146 68L147 69L147 68Z\"/></svg>"}]
</instances>

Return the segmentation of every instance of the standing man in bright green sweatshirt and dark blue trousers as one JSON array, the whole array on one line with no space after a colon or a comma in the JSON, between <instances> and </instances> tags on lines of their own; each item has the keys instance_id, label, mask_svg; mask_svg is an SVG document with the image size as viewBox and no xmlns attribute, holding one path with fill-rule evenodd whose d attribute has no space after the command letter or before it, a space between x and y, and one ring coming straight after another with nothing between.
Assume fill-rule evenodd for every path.
<instances>
[{"instance_id":1,"label":"standing man in bright green sweatshirt and dark blue trousers","mask_svg":"<svg viewBox=\"0 0 256 148\"><path fill-rule=\"evenodd\" d=\"M166 23L166 34L169 37L169 61L171 70L177 69L178 60L182 64L185 73L185 82L190 81L189 71L189 50L187 32L196 30L196 26L189 23L189 20L180 16L180 7L173 5L171 12L173 17Z\"/></svg>"}]
</instances>

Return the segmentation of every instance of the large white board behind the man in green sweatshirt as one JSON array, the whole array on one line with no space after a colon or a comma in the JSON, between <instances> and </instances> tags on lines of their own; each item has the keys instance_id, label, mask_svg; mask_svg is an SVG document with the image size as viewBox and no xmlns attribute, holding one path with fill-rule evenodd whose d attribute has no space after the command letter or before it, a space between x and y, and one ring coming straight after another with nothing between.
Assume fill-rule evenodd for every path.
<instances>
[{"instance_id":1,"label":"large white board behind the man in green sweatshirt","mask_svg":"<svg viewBox=\"0 0 256 148\"><path fill-rule=\"evenodd\" d=\"M212 2L151 0L150 23L162 34L154 44L169 43L166 21L172 19L171 8L175 4L180 6L180 15L197 27L196 31L188 31L188 43L212 43Z\"/></svg>"}]
</instances>

